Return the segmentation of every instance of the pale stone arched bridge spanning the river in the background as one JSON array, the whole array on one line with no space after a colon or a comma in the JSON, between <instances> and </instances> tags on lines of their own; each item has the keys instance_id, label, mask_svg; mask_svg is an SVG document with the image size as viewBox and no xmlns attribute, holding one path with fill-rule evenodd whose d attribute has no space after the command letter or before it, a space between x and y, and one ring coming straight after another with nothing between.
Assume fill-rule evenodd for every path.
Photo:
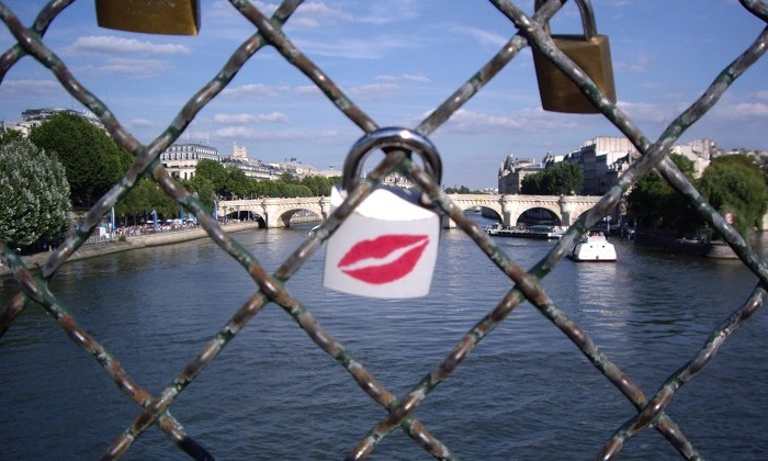
<instances>
[{"instance_id":1,"label":"pale stone arched bridge spanning the river in the background","mask_svg":"<svg viewBox=\"0 0 768 461\"><path fill-rule=\"evenodd\" d=\"M450 194L453 203L461 210L493 211L500 223L506 226L517 224L520 216L535 209L546 210L560 225L569 226L585 211L592 207L600 196L597 195L486 195ZM308 196L297 199L253 199L225 200L218 202L218 216L230 218L257 220L261 227L287 227L296 213L312 212L317 218L325 220L330 213L330 198ZM448 217L443 227L454 227Z\"/></svg>"}]
</instances>

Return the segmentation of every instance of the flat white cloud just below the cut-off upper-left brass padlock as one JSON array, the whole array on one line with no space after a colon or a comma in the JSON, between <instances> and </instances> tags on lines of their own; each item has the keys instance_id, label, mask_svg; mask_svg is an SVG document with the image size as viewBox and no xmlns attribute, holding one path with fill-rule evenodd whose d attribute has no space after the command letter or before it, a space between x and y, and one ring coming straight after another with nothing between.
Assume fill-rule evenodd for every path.
<instances>
[{"instance_id":1,"label":"flat white cloud just below the cut-off upper-left brass padlock","mask_svg":"<svg viewBox=\"0 0 768 461\"><path fill-rule=\"evenodd\" d=\"M189 55L192 53L184 45L154 44L136 38L123 38L114 35L88 35L79 37L67 47L76 55Z\"/></svg>"}]
</instances>

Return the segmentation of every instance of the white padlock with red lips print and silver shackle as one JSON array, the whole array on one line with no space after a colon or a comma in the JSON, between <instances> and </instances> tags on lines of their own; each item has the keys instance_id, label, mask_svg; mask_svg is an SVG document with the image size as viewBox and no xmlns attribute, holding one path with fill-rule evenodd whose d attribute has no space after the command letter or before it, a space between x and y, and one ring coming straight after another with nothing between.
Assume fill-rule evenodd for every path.
<instances>
[{"instance_id":1,"label":"white padlock with red lips print and silver shackle","mask_svg":"<svg viewBox=\"0 0 768 461\"><path fill-rule=\"evenodd\" d=\"M427 138L407 128L382 128L358 140L345 160L341 187L331 191L331 211L360 182L362 164L375 149L421 156L440 183L442 164ZM377 187L328 239L323 283L343 293L403 299L429 293L438 256L440 217L423 206L421 192Z\"/></svg>"}]
</instances>

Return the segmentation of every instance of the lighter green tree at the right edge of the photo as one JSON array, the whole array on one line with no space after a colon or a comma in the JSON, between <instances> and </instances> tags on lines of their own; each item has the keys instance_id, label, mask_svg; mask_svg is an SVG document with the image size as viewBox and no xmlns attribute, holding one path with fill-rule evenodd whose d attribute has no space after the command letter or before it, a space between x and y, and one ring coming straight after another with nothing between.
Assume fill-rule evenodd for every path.
<instances>
[{"instance_id":1,"label":"lighter green tree at the right edge of the photo","mask_svg":"<svg viewBox=\"0 0 768 461\"><path fill-rule=\"evenodd\" d=\"M715 210L733 216L733 226L745 238L768 210L768 185L759 166L746 155L712 160L701 177L700 189Z\"/></svg>"}]
</instances>

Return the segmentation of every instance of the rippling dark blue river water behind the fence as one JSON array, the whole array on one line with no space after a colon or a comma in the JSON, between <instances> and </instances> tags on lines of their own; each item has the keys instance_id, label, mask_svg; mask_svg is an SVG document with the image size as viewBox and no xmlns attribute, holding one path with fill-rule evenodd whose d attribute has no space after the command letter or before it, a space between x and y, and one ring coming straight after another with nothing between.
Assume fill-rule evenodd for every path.
<instances>
[{"instance_id":1,"label":"rippling dark blue river water behind the fence","mask_svg":"<svg viewBox=\"0 0 768 461\"><path fill-rule=\"evenodd\" d=\"M312 225L236 234L269 269ZM497 240L531 267L553 244ZM747 297L738 261L647 251L618 241L615 263L563 261L543 285L648 394ZM757 243L768 248L766 235ZM761 250L763 251L763 250ZM766 254L763 251L761 254ZM321 286L323 251L287 283L319 323L398 396L429 372L511 288L459 229L441 236L429 296L374 301ZM15 285L0 280L0 306ZM52 282L77 321L157 395L255 291L211 241L66 265ZM768 316L739 329L682 387L668 415L709 459L768 456ZM0 339L0 459L93 459L138 408L39 306ZM341 459L385 412L274 305L256 316L171 407L218 459ZM463 459L591 459L634 414L629 401L549 321L523 304L425 401L417 417ZM155 427L126 459L184 459ZM676 459L654 430L621 459ZM371 456L428 459L400 431Z\"/></svg>"}]
</instances>

